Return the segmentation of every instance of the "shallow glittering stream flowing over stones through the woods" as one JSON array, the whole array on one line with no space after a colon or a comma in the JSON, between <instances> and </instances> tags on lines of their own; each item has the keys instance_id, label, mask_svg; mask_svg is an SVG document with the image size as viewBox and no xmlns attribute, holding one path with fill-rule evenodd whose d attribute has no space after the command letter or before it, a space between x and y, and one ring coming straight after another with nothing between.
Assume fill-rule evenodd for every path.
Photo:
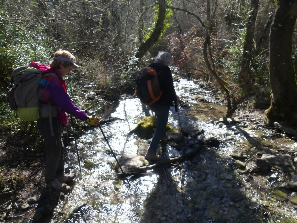
<instances>
[{"instance_id":1,"label":"shallow glittering stream flowing over stones through the woods","mask_svg":"<svg viewBox=\"0 0 297 223\"><path fill-rule=\"evenodd\" d=\"M70 158L65 169L76 172L77 177L49 222L297 222L296 192L284 186L296 170L274 168L267 174L254 171L261 151L295 151L296 142L276 129L264 128L256 117L244 113L233 115L239 122L219 122L226 116L227 106L223 99L222 103L216 102L216 91L206 90L195 80L177 80L174 84L182 102L181 126L203 129L199 137L216 139L219 146L205 146L203 152L183 162L128 176L129 186L114 170L115 158L100 129L89 128L77 141L81 171L75 143L67 147ZM198 98L191 99L194 95ZM137 155L145 140L129 132L144 117L153 115L138 98L130 96L119 101L106 117L114 121L102 125L117 157ZM168 124L180 128L174 107ZM185 141L187 145L199 143L191 136L186 136ZM181 155L170 145L165 148L168 157ZM234 158L234 154L240 155ZM238 166L238 160L245 164L244 168Z\"/></svg>"}]
</instances>

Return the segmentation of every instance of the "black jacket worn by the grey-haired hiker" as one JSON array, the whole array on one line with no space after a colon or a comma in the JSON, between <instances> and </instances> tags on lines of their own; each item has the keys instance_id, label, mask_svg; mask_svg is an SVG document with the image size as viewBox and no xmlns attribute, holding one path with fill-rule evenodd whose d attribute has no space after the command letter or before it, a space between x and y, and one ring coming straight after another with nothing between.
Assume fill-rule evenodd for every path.
<instances>
[{"instance_id":1,"label":"black jacket worn by the grey-haired hiker","mask_svg":"<svg viewBox=\"0 0 297 223\"><path fill-rule=\"evenodd\" d=\"M173 86L173 78L170 68L159 63L152 63L148 67L152 67L156 70L160 89L163 91L160 100L155 104L173 106L172 102L177 100L177 96Z\"/></svg>"}]
</instances>

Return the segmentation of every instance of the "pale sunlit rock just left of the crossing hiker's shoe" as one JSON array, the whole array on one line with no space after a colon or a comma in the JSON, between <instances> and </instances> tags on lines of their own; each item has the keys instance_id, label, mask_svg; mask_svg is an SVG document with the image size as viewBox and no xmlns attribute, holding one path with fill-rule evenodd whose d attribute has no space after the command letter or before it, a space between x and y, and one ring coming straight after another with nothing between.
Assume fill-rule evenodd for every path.
<instances>
[{"instance_id":1,"label":"pale sunlit rock just left of the crossing hiker's shoe","mask_svg":"<svg viewBox=\"0 0 297 223\"><path fill-rule=\"evenodd\" d=\"M149 165L149 162L144 159L144 156L121 156L117 158L124 172L135 172L139 167ZM121 169L117 162L114 163L116 171L121 173Z\"/></svg>"}]
</instances>

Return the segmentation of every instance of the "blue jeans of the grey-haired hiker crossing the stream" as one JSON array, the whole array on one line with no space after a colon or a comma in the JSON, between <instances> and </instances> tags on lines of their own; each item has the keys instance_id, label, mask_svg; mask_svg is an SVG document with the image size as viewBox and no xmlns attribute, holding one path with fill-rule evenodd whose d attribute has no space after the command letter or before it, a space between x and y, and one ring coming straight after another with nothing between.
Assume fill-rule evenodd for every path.
<instances>
[{"instance_id":1,"label":"blue jeans of the grey-haired hiker crossing the stream","mask_svg":"<svg viewBox=\"0 0 297 223\"><path fill-rule=\"evenodd\" d=\"M149 105L149 108L156 114L157 117L156 131L148 148L149 152L155 154L157 152L159 142L166 131L170 106L152 104Z\"/></svg>"}]
</instances>

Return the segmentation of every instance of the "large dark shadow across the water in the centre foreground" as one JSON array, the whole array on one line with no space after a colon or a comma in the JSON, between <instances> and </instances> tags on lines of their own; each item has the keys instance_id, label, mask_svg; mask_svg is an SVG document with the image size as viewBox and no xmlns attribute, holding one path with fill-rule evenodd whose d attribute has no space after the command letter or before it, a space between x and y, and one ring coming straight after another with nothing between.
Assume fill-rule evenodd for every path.
<instances>
[{"instance_id":1,"label":"large dark shadow across the water in the centre foreground","mask_svg":"<svg viewBox=\"0 0 297 223\"><path fill-rule=\"evenodd\" d=\"M182 120L182 125L189 122ZM140 222L263 222L230 159L217 150L205 147L198 156L161 167Z\"/></svg>"}]
</instances>

